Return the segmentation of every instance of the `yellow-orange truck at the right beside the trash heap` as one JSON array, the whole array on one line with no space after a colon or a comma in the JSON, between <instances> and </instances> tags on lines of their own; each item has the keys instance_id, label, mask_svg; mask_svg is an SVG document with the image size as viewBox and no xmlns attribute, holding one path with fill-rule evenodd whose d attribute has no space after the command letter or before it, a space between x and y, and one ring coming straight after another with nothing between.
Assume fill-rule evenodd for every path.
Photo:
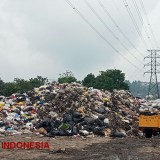
<instances>
[{"instance_id":1,"label":"yellow-orange truck at the right beside the trash heap","mask_svg":"<svg viewBox=\"0 0 160 160\"><path fill-rule=\"evenodd\" d=\"M146 138L160 133L160 113L144 112L139 114L139 130Z\"/></svg>"}]
</instances>

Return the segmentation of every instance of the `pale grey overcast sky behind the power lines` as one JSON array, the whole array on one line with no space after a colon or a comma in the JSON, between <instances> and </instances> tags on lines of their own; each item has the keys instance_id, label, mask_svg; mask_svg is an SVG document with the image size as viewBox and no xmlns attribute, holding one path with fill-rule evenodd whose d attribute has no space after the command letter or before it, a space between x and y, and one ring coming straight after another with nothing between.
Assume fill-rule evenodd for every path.
<instances>
[{"instance_id":1,"label":"pale grey overcast sky behind the power lines","mask_svg":"<svg viewBox=\"0 0 160 160\"><path fill-rule=\"evenodd\" d=\"M144 62L143 58L149 54L147 49L157 48L154 44L154 47L150 47L150 41L145 34L144 27L153 41L140 0L136 2L143 17L143 26L132 0L127 2L148 48L136 32L123 0L101 0L119 28L140 53L122 36L97 0L88 2L129 52L97 19L84 0L70 2L122 56L100 38L65 0L0 0L1 79L13 81L15 77L28 79L37 75L57 79L60 73L70 70L82 80L89 73L97 75L101 70L120 69L126 74L126 79L148 81L149 75L143 77L143 72L150 68L144 69L143 65L149 61ZM160 1L143 2L160 45ZM160 80L160 76L158 77Z\"/></svg>"}]
</instances>

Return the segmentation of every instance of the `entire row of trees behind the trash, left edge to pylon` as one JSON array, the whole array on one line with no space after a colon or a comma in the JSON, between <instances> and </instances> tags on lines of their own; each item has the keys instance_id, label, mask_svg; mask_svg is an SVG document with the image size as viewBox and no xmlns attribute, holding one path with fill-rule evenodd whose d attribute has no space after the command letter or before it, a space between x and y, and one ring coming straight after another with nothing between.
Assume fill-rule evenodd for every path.
<instances>
[{"instance_id":1,"label":"entire row of trees behind the trash, left edge to pylon","mask_svg":"<svg viewBox=\"0 0 160 160\"><path fill-rule=\"evenodd\" d=\"M13 82L4 82L0 79L0 95L10 96L12 93L28 92L33 88L40 87L48 82L46 77L37 76L24 80L15 78ZM71 71L66 71L59 75L59 83L81 83L86 87L103 89L112 92L114 89L129 90L135 96L144 98L147 95L147 86L144 86L140 81L129 82L125 80L125 74L118 69L108 69L100 71L97 76L89 73L82 81L77 80Z\"/></svg>"}]
</instances>

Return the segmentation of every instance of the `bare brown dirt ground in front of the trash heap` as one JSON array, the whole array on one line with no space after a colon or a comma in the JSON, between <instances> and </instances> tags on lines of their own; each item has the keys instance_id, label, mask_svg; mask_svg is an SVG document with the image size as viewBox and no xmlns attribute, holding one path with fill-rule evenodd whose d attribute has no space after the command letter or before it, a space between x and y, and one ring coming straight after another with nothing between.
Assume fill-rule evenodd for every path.
<instances>
[{"instance_id":1,"label":"bare brown dirt ground in front of the trash heap","mask_svg":"<svg viewBox=\"0 0 160 160\"><path fill-rule=\"evenodd\" d=\"M160 160L160 138L0 137L0 143L49 142L49 150L2 149L0 160Z\"/></svg>"}]
</instances>

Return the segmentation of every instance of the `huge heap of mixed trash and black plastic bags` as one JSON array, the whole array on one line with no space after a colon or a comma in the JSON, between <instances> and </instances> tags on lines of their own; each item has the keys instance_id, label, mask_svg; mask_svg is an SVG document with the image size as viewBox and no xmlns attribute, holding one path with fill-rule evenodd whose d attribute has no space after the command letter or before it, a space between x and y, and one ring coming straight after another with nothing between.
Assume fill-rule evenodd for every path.
<instances>
[{"instance_id":1,"label":"huge heap of mixed trash and black plastic bags","mask_svg":"<svg viewBox=\"0 0 160 160\"><path fill-rule=\"evenodd\" d=\"M46 136L136 136L139 100L78 83L52 84L0 97L0 133Z\"/></svg>"}]
</instances>

